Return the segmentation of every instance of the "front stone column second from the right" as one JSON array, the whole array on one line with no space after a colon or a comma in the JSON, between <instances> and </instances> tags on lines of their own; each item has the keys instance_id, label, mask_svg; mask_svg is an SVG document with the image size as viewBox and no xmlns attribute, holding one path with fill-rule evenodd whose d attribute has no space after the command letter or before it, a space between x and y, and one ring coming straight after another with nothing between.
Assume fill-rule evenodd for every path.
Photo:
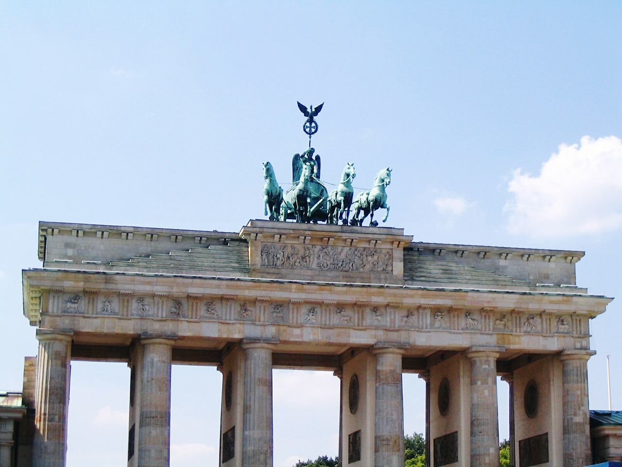
<instances>
[{"instance_id":1,"label":"front stone column second from the right","mask_svg":"<svg viewBox=\"0 0 622 467\"><path fill-rule=\"evenodd\" d=\"M499 347L471 347L471 465L499 467L497 368Z\"/></svg>"}]
</instances>

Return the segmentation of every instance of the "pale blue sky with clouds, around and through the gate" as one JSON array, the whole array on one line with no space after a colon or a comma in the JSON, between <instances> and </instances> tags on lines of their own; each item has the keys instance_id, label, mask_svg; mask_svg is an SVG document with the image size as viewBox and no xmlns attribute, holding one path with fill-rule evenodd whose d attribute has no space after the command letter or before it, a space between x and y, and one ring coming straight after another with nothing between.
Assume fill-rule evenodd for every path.
<instances>
[{"instance_id":1,"label":"pale blue sky with clouds, around and through the gate","mask_svg":"<svg viewBox=\"0 0 622 467\"><path fill-rule=\"evenodd\" d=\"M585 250L578 284L620 295L621 27L615 1L0 2L0 386L19 389L36 353L20 270L39 265L39 220L238 231L262 217L261 162L284 184L307 145L297 100L326 102L323 179L354 162L368 187L392 167L387 225ZM608 354L622 408L618 313L591 323L592 408ZM127 369L72 374L68 465L122 463ZM220 374L173 375L173 465L216 465ZM276 467L336 454L337 387L275 373ZM422 388L405 379L408 432Z\"/></svg>"}]
</instances>

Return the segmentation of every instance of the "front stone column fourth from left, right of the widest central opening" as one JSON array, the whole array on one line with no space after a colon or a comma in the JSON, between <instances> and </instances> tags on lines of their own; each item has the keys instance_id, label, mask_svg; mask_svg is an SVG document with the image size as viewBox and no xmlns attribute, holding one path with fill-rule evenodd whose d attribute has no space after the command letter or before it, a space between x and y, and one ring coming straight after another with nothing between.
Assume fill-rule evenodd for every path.
<instances>
[{"instance_id":1,"label":"front stone column fourth from left, right of the widest central opening","mask_svg":"<svg viewBox=\"0 0 622 467\"><path fill-rule=\"evenodd\" d=\"M404 349L376 348L373 354L376 356L374 465L404 467Z\"/></svg>"}]
</instances>

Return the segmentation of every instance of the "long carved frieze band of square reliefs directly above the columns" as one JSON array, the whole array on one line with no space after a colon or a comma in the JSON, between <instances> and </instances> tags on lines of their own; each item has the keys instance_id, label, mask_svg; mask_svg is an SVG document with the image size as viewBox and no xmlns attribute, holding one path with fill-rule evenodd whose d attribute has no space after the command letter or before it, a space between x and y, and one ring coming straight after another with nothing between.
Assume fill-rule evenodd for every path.
<instances>
[{"instance_id":1,"label":"long carved frieze band of square reliefs directly above the columns","mask_svg":"<svg viewBox=\"0 0 622 467\"><path fill-rule=\"evenodd\" d=\"M307 245L308 246L308 245ZM421 305L268 300L237 296L167 296L97 291L52 291L44 314L101 318L244 321L274 326L338 326L471 333L521 333L581 336L587 324L571 314L526 310L488 311L427 308ZM587 318L585 319L587 321Z\"/></svg>"}]
</instances>

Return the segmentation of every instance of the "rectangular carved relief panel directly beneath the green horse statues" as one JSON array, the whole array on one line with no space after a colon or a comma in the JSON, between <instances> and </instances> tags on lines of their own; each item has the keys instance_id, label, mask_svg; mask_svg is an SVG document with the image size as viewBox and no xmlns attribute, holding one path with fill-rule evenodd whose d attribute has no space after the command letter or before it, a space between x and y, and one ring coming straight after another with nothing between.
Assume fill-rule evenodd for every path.
<instances>
[{"instance_id":1,"label":"rectangular carved relief panel directly beneath the green horse statues","mask_svg":"<svg viewBox=\"0 0 622 467\"><path fill-rule=\"evenodd\" d=\"M391 274L393 253L386 248L264 243L261 247L261 266Z\"/></svg>"}]
</instances>

